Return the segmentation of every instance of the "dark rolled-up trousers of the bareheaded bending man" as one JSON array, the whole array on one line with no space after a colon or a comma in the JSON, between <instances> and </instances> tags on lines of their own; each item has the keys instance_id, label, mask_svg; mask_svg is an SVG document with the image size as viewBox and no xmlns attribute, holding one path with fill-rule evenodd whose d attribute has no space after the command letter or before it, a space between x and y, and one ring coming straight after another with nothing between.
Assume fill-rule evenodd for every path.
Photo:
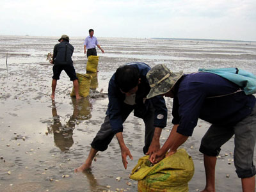
<instances>
[{"instance_id":1,"label":"dark rolled-up trousers of the bareheaded bending man","mask_svg":"<svg viewBox=\"0 0 256 192\"><path fill-rule=\"evenodd\" d=\"M125 122L126 118L129 116L129 114L132 112L134 108L132 106L128 106L127 108L123 109L122 111L122 120L123 123ZM152 141L152 138L154 136L154 108L152 104L149 104L147 113L145 114L143 122L145 124L145 146L143 147L143 153L146 154L148 152L148 148L150 146L150 143ZM105 117L105 120L103 124L100 127L100 130L97 132L95 138L93 139L91 146L92 148L104 151L108 148L109 143L113 139L115 134L112 131L110 122L109 122L109 116L107 115Z\"/></svg>"}]
</instances>

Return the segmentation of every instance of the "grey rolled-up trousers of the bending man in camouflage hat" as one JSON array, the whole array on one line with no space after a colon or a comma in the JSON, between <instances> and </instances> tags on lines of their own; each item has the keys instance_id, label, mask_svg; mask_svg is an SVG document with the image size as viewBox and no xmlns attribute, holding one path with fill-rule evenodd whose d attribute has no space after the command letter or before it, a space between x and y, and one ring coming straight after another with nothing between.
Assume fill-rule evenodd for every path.
<instances>
[{"instance_id":1,"label":"grey rolled-up trousers of the bending man in camouflage hat","mask_svg":"<svg viewBox=\"0 0 256 192\"><path fill-rule=\"evenodd\" d=\"M235 135L234 164L239 178L256 174L253 152L256 141L256 106L250 115L234 126L211 125L201 141L200 152L207 156L218 156L221 146Z\"/></svg>"}]
</instances>

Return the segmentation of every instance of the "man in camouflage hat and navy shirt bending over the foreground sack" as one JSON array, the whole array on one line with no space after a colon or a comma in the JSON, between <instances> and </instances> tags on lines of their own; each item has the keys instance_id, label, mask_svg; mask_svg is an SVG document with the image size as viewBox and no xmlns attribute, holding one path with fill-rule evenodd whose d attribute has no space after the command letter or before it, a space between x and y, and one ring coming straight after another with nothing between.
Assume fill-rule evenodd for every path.
<instances>
[{"instance_id":1,"label":"man in camouflage hat and navy shirt bending over the foreground sack","mask_svg":"<svg viewBox=\"0 0 256 192\"><path fill-rule=\"evenodd\" d=\"M193 134L198 118L211 123L202 138L206 186L215 191L216 157L221 146L235 135L234 164L243 191L255 191L253 152L256 140L256 99L237 84L209 72L183 74L157 65L147 74L151 90L147 98L162 95L173 98L173 129L163 147L150 157L158 163L171 156ZM169 150L169 152L168 152ZM168 152L168 154L166 154Z\"/></svg>"}]
</instances>

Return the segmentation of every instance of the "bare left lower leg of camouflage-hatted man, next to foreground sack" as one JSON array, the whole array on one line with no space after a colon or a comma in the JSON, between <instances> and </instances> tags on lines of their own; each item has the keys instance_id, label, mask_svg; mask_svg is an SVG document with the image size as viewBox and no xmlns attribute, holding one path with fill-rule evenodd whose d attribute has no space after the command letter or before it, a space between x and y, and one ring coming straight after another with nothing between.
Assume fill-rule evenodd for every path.
<instances>
[{"instance_id":1,"label":"bare left lower leg of camouflage-hatted man, next to foreground sack","mask_svg":"<svg viewBox=\"0 0 256 192\"><path fill-rule=\"evenodd\" d=\"M215 192L215 166L217 158L204 155L206 186L201 192Z\"/></svg>"}]
</instances>

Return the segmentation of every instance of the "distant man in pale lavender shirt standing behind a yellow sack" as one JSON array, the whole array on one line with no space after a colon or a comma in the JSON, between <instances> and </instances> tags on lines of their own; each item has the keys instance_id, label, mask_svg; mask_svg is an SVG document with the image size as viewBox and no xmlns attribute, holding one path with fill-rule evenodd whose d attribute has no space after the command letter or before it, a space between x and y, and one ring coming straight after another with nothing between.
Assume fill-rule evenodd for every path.
<instances>
[{"instance_id":1,"label":"distant man in pale lavender shirt standing behind a yellow sack","mask_svg":"<svg viewBox=\"0 0 256 192\"><path fill-rule=\"evenodd\" d=\"M84 40L84 54L86 54L87 49L87 57L91 55L97 56L96 46L100 49L101 52L104 53L104 50L101 49L100 45L98 44L97 38L93 36L93 34L93 29L89 29L89 36L87 36Z\"/></svg>"}]
</instances>

